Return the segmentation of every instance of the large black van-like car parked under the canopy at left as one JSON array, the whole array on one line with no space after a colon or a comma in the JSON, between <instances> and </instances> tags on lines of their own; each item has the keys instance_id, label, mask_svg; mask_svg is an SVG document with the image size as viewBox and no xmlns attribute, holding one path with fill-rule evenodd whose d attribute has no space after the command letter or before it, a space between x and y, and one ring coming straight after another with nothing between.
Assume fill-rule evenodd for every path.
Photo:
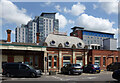
<instances>
[{"instance_id":1,"label":"large black van-like car parked under the canopy at left","mask_svg":"<svg viewBox=\"0 0 120 83\"><path fill-rule=\"evenodd\" d=\"M2 75L11 76L41 76L41 70L36 70L33 67L24 63L6 63L3 65Z\"/></svg>"}]
</instances>

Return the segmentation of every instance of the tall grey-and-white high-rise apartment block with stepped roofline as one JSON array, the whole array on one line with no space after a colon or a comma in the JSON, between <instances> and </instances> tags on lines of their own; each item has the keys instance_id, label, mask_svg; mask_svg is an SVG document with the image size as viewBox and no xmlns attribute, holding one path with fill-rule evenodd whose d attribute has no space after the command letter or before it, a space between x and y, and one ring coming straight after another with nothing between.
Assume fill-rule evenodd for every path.
<instances>
[{"instance_id":1,"label":"tall grey-and-white high-rise apartment block with stepped roofline","mask_svg":"<svg viewBox=\"0 0 120 83\"><path fill-rule=\"evenodd\" d=\"M36 43L36 33L40 33L40 41L44 41L48 34L56 31L59 32L59 20L55 18L56 13L42 13L40 16L22 25L20 28L17 27L16 42L24 43Z\"/></svg>"}]
</instances>

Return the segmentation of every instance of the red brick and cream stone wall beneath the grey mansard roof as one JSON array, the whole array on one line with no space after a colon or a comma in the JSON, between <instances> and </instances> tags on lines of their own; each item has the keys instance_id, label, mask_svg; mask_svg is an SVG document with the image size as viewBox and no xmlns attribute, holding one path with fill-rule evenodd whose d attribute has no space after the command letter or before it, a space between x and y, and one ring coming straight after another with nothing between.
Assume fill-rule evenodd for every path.
<instances>
[{"instance_id":1,"label":"red brick and cream stone wall beneath the grey mansard roof","mask_svg":"<svg viewBox=\"0 0 120 83\"><path fill-rule=\"evenodd\" d=\"M52 56L52 59L49 60L49 56ZM54 56L57 56L57 66L54 67L54 62L56 62ZM63 60L65 56L70 57L69 60ZM82 60L77 60L76 57L82 57ZM47 48L47 70L48 71L61 71L61 68L64 65L64 62L70 62L73 64L83 63L82 65L87 64L87 52L84 49L71 49L71 48ZM49 67L49 62L52 63Z\"/></svg>"}]
</instances>

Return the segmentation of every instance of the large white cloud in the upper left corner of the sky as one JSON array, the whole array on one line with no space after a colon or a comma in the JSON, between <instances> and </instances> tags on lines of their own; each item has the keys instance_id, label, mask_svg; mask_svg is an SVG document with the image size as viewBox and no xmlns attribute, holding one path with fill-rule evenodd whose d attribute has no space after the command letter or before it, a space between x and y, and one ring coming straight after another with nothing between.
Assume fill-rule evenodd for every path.
<instances>
[{"instance_id":1,"label":"large white cloud in the upper left corner of the sky","mask_svg":"<svg viewBox=\"0 0 120 83\"><path fill-rule=\"evenodd\" d=\"M2 15L0 16L9 23L16 23L17 25L19 25L26 24L29 20L31 20L31 17L26 14L26 9L19 9L9 0L2 0L0 2L0 7L1 6Z\"/></svg>"}]
</instances>

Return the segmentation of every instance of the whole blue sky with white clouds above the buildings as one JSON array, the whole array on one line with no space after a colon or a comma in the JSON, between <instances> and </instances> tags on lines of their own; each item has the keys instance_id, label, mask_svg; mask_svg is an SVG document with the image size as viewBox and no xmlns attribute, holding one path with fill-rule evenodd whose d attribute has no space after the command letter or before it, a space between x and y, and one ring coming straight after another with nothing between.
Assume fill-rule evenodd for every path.
<instances>
[{"instance_id":1,"label":"whole blue sky with white clouds above the buildings","mask_svg":"<svg viewBox=\"0 0 120 83\"><path fill-rule=\"evenodd\" d=\"M113 0L116 1L116 0ZM0 2L0 23L2 36L6 40L6 30L12 30L12 42L15 42L15 28L26 24L42 12L56 12L60 32L69 35L74 26L87 30L114 33L118 38L118 2ZM2 29L2 30L1 30Z\"/></svg>"}]
</instances>

